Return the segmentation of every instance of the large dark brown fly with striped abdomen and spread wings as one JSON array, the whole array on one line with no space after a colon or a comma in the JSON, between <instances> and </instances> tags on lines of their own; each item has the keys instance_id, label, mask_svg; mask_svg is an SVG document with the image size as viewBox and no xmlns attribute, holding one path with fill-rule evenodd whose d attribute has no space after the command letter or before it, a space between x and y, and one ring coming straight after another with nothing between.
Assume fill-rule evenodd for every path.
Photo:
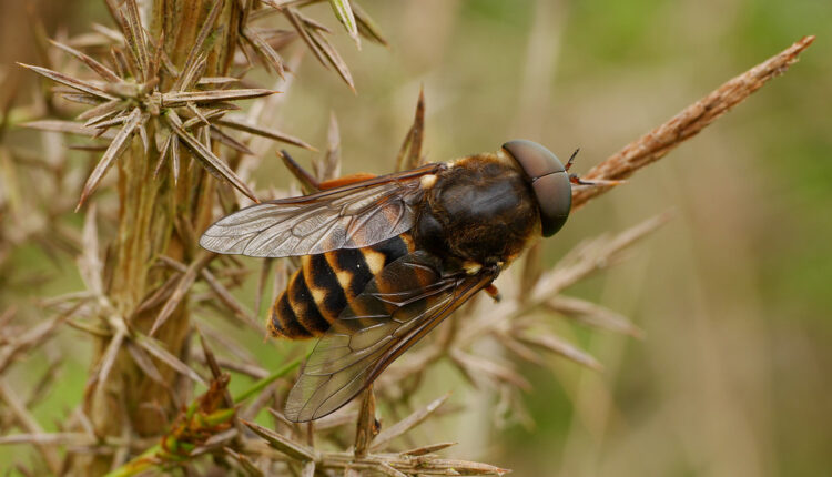
<instances>
[{"instance_id":1,"label":"large dark brown fly with striped abdomen and spread wings","mask_svg":"<svg viewBox=\"0 0 832 477\"><path fill-rule=\"evenodd\" d=\"M300 257L267 321L274 336L319 338L286 417L333 413L477 292L497 300L500 272L566 223L571 184L584 183L567 173L574 158L564 165L540 144L509 141L494 153L322 183L211 225L200 240L210 251Z\"/></svg>"}]
</instances>

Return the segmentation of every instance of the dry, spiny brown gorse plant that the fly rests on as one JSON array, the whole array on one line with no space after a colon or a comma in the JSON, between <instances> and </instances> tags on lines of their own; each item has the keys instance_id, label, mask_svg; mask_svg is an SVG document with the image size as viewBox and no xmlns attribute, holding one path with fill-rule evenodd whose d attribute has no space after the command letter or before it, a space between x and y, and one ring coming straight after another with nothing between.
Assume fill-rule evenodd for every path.
<instances>
[{"instance_id":1,"label":"dry, spiny brown gorse plant that the fly rests on","mask_svg":"<svg viewBox=\"0 0 832 477\"><path fill-rule=\"evenodd\" d=\"M335 32L306 12L313 3L317 1L152 0L140 9L136 0L106 0L114 27L97 24L90 33L52 41L45 65L23 65L57 84L44 95L47 106L32 108L28 115L37 118L24 126L90 138L72 149L88 151L95 162L84 170L70 163L60 146L51 148L51 156L32 158L0 144L0 293L16 286L12 277L23 276L11 268L9 256L27 242L48 254L77 257L85 285L75 293L43 297L39 306L47 317L33 325L16 323L14 308L0 311L0 402L6 405L0 443L31 444L40 456L35 464L20 463L21 470L119 476L176 468L186 475L213 468L255 476L504 474L506 469L493 465L438 457L451 443L409 438L420 423L453 412L443 406L447 396L426 406L413 399L425 373L439 362L453 364L474 386L493 389L500 397L495 413L506 415L519 408L518 389L530 385L515 364L499 356L545 364L541 354L555 353L601 366L551 333L545 325L548 315L640 335L619 314L562 292L620 261L622 252L664 223L667 214L587 241L550 270L540 267L540 251L534 247L518 274L506 274L503 302L477 301L459 309L435 336L384 373L363 399L310 425L282 416L306 345L275 343L275 359L264 364L203 317L213 312L252 336L263 336L256 311L267 283L273 280L280 292L295 265L265 260L255 271L252 262L209 253L197 241L220 215L273 196L252 180L272 142L315 151L271 125L282 112L275 93L287 93L287 79L297 70L297 60L287 63L283 58L287 48L303 43L355 89L349 69L329 42ZM364 39L386 44L354 1L329 3L356 43ZM660 159L785 71L811 42L803 39L724 83L592 168L585 179L621 181ZM255 68L270 72L275 84L262 88L245 78ZM80 104L80 113L55 98ZM242 100L253 100L245 111ZM0 141L12 122L10 104L0 103ZM71 114L75 120L67 120ZM424 114L420 97L396 160L399 170L426 160ZM53 135L43 138L54 141ZM333 116L326 150L314 164L316 179L333 179L339 168ZM22 169L31 170L28 179L16 173ZM41 190L48 184L50 193L23 200L33 183ZM576 187L574 210L612 187ZM65 224L73 211L84 215L80 233ZM258 276L254 313L233 293L252 274ZM45 345L67 326L92 342L92 361L78 407L59 432L45 433L29 408L48 392L60 362ZM496 343L500 353L475 352L485 342ZM24 399L3 374L35 351L45 353L52 365ZM230 379L253 384L233 395ZM376 404L398 418L379 423ZM266 417L272 426L262 425ZM13 428L18 432L12 434Z\"/></svg>"}]
</instances>

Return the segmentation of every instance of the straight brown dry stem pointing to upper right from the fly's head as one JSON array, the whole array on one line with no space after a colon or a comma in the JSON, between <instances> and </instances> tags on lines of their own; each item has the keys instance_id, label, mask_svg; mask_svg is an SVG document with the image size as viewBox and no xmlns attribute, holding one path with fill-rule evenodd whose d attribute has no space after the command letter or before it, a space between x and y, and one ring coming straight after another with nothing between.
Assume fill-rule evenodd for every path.
<instances>
[{"instance_id":1,"label":"straight brown dry stem pointing to upper right from the fly's head","mask_svg":"<svg viewBox=\"0 0 832 477\"><path fill-rule=\"evenodd\" d=\"M804 37L781 53L723 83L664 124L627 144L621 151L592 168L582 179L587 181L626 179L637 170L663 158L673 148L698 134L731 108L762 88L767 81L783 74L813 41L814 37ZM572 192L572 210L579 209L587 201L609 189L611 187L576 189Z\"/></svg>"}]
</instances>

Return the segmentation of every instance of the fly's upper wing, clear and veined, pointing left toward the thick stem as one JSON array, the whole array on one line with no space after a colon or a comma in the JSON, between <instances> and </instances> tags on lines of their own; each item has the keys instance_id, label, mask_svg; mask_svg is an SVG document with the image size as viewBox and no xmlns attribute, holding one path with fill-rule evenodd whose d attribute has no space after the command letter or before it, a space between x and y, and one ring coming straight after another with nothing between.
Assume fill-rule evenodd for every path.
<instances>
[{"instance_id":1,"label":"fly's upper wing, clear and veined, pointing left toward the thick stem","mask_svg":"<svg viewBox=\"0 0 832 477\"><path fill-rule=\"evenodd\" d=\"M248 256L300 256L359 248L407 232L423 197L419 177L439 164L303 197L242 209L211 225L200 245Z\"/></svg>"}]
</instances>

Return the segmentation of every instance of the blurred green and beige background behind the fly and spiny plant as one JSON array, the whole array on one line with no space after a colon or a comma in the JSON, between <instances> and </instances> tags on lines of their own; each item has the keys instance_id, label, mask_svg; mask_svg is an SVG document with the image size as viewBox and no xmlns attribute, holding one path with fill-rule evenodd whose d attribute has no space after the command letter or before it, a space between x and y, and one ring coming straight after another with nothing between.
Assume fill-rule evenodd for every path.
<instances>
[{"instance_id":1,"label":"blurred green and beige background behind the fly and spiny plant","mask_svg":"<svg viewBox=\"0 0 832 477\"><path fill-rule=\"evenodd\" d=\"M0 2L3 71L13 61L38 61L29 3ZM31 2L52 35L109 23L101 3ZM285 103L284 130L319 145L329 112L336 114L347 173L393 168L422 85L430 160L527 138L561 158L580 146L576 169L587 171L721 82L802 35L818 35L784 77L592 201L548 241L545 255L554 263L582 238L676 211L626 263L569 291L629 316L643 341L558 325L606 371L558 358L554 374L524 365L535 385L525 396L531 423L506 425L478 410L478 400L491 397L444 373L434 386L470 406L422 432L459 442L454 455L520 476L830 475L832 2L363 6L390 48L364 42L356 51L338 35L358 93L305 58ZM257 183L286 185L277 161ZM70 260L57 267L35 245L17 250L13 261L49 280L4 282L0 309L81 287ZM34 409L47 429L79 402L90 356L78 333L65 331L55 343L64 359L60 385ZM42 356L26 359L32 369L44 366ZM34 374L26 369L12 382L27 386ZM0 448L0 459L16 451Z\"/></svg>"}]
</instances>

